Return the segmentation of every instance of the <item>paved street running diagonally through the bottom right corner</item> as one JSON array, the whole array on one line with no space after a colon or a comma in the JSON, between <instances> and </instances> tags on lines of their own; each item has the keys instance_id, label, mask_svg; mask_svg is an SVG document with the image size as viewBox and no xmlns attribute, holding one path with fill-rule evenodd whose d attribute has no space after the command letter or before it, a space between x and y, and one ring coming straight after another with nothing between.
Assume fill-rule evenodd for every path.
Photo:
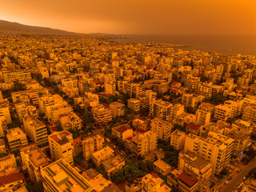
<instances>
[{"instance_id":1,"label":"paved street running diagonally through the bottom right corner","mask_svg":"<svg viewBox=\"0 0 256 192\"><path fill-rule=\"evenodd\" d=\"M248 165L241 170L241 172L230 181L230 184L222 190L223 192L231 192L234 187L242 182L242 179L249 173L249 171L256 166L256 158L253 158Z\"/></svg>"}]
</instances>

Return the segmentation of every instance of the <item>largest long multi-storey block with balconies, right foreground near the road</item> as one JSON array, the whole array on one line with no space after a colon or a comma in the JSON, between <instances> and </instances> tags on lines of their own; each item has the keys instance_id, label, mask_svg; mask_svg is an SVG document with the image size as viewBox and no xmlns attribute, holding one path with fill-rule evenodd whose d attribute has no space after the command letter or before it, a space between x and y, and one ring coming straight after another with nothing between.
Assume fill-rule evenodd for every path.
<instances>
[{"instance_id":1,"label":"largest long multi-storey block with balconies, right foreground near the road","mask_svg":"<svg viewBox=\"0 0 256 192\"><path fill-rule=\"evenodd\" d=\"M230 162L231 154L234 151L234 139L212 131L208 133L207 138L188 134L184 150L189 150L206 160L210 160L213 174L219 174Z\"/></svg>"}]
</instances>

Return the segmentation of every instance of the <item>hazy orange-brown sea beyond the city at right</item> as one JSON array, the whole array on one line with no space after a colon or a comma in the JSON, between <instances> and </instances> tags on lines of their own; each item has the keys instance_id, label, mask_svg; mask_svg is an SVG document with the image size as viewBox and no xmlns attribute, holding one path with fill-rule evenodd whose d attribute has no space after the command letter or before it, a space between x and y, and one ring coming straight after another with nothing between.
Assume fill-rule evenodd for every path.
<instances>
[{"instance_id":1,"label":"hazy orange-brown sea beyond the city at right","mask_svg":"<svg viewBox=\"0 0 256 192\"><path fill-rule=\"evenodd\" d=\"M170 43L184 45L186 50L224 55L256 55L256 35L124 35L113 39L115 42Z\"/></svg>"}]
</instances>

